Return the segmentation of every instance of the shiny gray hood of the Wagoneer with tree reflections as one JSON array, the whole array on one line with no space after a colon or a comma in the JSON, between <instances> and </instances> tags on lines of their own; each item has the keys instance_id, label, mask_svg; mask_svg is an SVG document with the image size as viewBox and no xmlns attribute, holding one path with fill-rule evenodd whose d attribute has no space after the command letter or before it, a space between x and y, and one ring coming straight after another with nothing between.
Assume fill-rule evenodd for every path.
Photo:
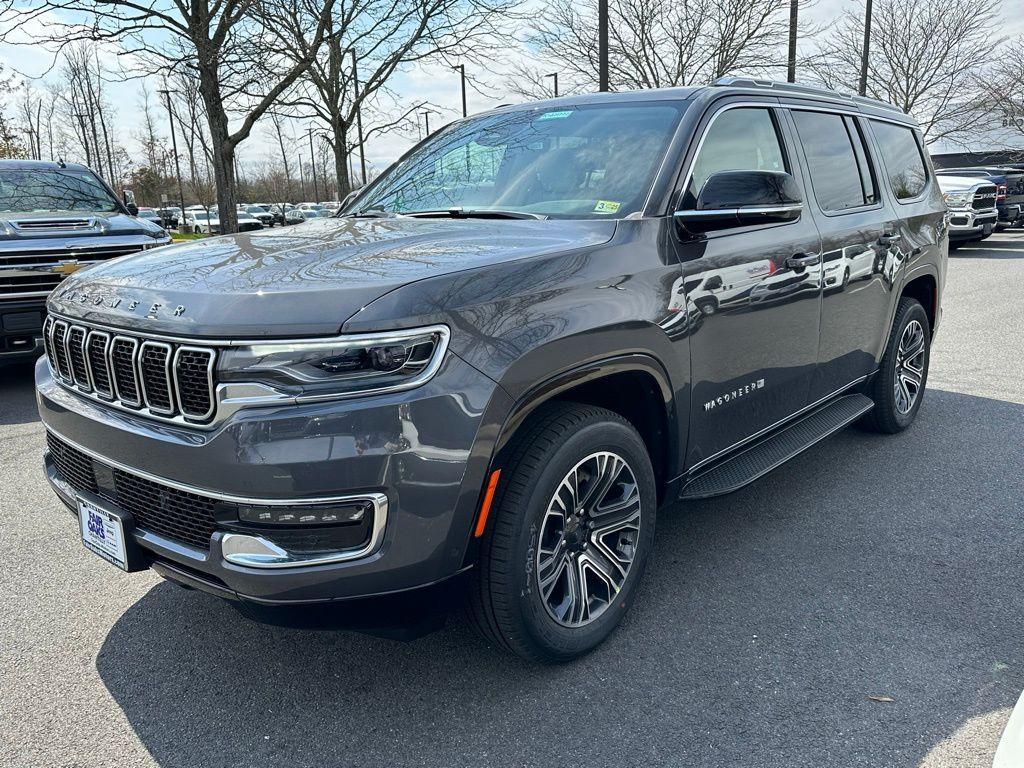
<instances>
[{"instance_id":1,"label":"shiny gray hood of the Wagoneer with tree reflections","mask_svg":"<svg viewBox=\"0 0 1024 768\"><path fill-rule=\"evenodd\" d=\"M600 245L614 229L600 220L310 219L97 264L65 281L49 305L180 336L326 336L409 283Z\"/></svg>"}]
</instances>

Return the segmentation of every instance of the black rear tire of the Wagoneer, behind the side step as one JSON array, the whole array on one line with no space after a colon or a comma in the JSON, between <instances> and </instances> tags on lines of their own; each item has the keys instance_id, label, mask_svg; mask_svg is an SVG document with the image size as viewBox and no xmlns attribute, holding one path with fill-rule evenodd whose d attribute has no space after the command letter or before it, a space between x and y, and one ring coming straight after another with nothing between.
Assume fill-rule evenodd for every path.
<instances>
[{"instance_id":1,"label":"black rear tire of the Wagoneer, behind the side step","mask_svg":"<svg viewBox=\"0 0 1024 768\"><path fill-rule=\"evenodd\" d=\"M916 345L907 346L910 336L916 336L915 332L908 331L913 324L920 328L923 346L916 352ZM904 297L900 299L896 309L896 318L893 321L893 330L886 344L886 351L882 357L882 365L879 372L871 380L867 391L867 396L874 400L874 409L867 414L862 422L863 426L874 432L885 434L896 434L909 427L921 402L925 398L925 387L928 384L928 365L931 361L932 329L928 322L928 313L916 299ZM901 350L901 344L903 350ZM907 356L907 352L912 352L913 358ZM920 355L920 357L919 357ZM905 376L912 376L914 372L920 382L913 391L913 396L909 408L906 408L905 399L897 393L896 377L898 372ZM905 390L911 389L910 384L905 382Z\"/></svg>"}]
</instances>

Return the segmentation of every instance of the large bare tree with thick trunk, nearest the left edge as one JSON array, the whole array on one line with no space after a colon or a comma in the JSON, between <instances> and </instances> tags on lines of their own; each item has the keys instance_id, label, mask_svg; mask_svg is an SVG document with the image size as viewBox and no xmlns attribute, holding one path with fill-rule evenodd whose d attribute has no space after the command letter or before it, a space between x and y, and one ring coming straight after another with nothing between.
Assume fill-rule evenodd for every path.
<instances>
[{"instance_id":1,"label":"large bare tree with thick trunk, nearest the left edge","mask_svg":"<svg viewBox=\"0 0 1024 768\"><path fill-rule=\"evenodd\" d=\"M134 65L129 76L190 72L206 110L221 225L224 231L234 231L237 147L316 56L334 4L335 0L2 0L0 40L28 40L57 52L81 40L115 43ZM63 20L70 17L86 20ZM303 34L280 35L285 25Z\"/></svg>"}]
</instances>

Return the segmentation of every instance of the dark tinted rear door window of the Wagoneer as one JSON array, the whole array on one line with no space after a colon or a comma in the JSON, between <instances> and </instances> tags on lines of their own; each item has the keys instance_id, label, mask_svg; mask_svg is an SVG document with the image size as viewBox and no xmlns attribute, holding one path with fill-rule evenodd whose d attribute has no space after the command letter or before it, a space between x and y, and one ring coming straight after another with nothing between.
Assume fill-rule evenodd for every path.
<instances>
[{"instance_id":1,"label":"dark tinted rear door window of the Wagoneer","mask_svg":"<svg viewBox=\"0 0 1024 768\"><path fill-rule=\"evenodd\" d=\"M821 210L845 211L873 203L874 182L856 124L823 112L794 112L793 119Z\"/></svg>"}]
</instances>

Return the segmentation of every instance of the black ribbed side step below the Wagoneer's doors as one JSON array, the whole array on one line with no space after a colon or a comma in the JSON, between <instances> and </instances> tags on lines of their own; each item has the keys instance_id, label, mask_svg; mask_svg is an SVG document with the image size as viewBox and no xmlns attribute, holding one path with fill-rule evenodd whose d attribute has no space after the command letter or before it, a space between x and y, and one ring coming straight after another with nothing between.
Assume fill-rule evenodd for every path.
<instances>
[{"instance_id":1,"label":"black ribbed side step below the Wagoneer's doors","mask_svg":"<svg viewBox=\"0 0 1024 768\"><path fill-rule=\"evenodd\" d=\"M737 490L856 421L872 408L874 403L862 394L835 399L701 472L683 486L679 498L707 499Z\"/></svg>"}]
</instances>

